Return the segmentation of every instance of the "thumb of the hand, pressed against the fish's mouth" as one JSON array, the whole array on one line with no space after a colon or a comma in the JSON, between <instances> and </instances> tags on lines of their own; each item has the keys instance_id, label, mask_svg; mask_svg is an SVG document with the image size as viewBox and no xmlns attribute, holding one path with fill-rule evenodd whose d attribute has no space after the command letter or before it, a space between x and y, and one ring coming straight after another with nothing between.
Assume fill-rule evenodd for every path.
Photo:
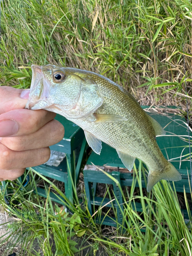
<instances>
[{"instance_id":1,"label":"thumb of the hand, pressed against the fish's mouth","mask_svg":"<svg viewBox=\"0 0 192 256\"><path fill-rule=\"evenodd\" d=\"M0 115L14 109L24 109L30 90L0 87Z\"/></svg>"}]
</instances>

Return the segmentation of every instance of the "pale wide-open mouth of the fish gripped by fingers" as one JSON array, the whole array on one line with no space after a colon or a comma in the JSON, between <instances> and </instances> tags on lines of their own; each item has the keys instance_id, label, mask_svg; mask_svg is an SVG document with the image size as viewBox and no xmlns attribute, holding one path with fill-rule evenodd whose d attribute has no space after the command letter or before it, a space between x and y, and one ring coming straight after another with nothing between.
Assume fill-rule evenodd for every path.
<instances>
[{"instance_id":1,"label":"pale wide-open mouth of the fish gripped by fingers","mask_svg":"<svg viewBox=\"0 0 192 256\"><path fill-rule=\"evenodd\" d=\"M42 66L32 65L32 80L29 100L25 109L39 110L48 107L50 83L41 70Z\"/></svg>"}]
</instances>

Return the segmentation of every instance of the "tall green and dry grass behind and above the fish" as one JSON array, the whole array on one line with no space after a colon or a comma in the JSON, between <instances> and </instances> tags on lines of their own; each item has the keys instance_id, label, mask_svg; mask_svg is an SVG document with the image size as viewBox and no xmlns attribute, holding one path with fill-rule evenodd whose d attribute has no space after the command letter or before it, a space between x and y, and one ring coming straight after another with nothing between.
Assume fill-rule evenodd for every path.
<instances>
[{"instance_id":1,"label":"tall green and dry grass behind and above the fish","mask_svg":"<svg viewBox=\"0 0 192 256\"><path fill-rule=\"evenodd\" d=\"M7 0L0 81L28 88L32 64L54 63L108 76L135 97L139 86L153 90L155 102L174 96L179 104L186 94L183 53L191 94L191 11L184 0Z\"/></svg>"}]
</instances>

